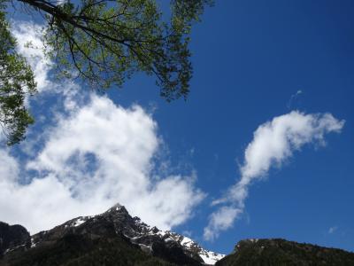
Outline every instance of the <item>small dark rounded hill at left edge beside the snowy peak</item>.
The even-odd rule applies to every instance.
[[[0,222],[0,258],[14,249],[26,249],[31,246],[29,233],[21,225],[9,225]]]

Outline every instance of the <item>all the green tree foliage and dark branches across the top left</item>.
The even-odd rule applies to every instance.
[[[7,2],[0,0],[0,10]],[[204,6],[212,4],[212,0],[172,0],[171,13],[165,15],[155,0],[14,2],[42,13],[48,25],[43,34],[46,53],[58,66],[60,76],[80,77],[104,90],[122,86],[132,74],[144,72],[156,77],[167,101],[189,94],[190,29]],[[24,97],[25,92],[35,92],[35,82],[25,59],[14,50],[15,40],[4,12],[0,20],[0,43],[7,42],[0,48],[1,123],[9,132],[9,144],[14,144],[23,139],[33,122]]]

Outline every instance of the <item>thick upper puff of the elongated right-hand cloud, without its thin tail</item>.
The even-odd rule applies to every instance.
[[[273,165],[292,155],[304,144],[317,141],[324,144],[327,132],[339,132],[344,121],[336,120],[332,114],[304,114],[293,111],[275,117],[258,127],[253,141],[245,151],[245,163],[241,168],[242,185],[253,178],[264,176]]]

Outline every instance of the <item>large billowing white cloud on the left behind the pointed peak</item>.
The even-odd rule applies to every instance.
[[[204,193],[196,188],[193,171],[157,175],[157,165],[165,163],[158,157],[164,145],[150,113],[95,94],[82,100],[74,82],[50,81],[38,29],[15,23],[13,33],[35,69],[40,92],[49,92],[40,94],[39,106],[48,105],[52,93],[62,100],[50,98],[55,106],[44,108],[43,128],[30,129],[21,145],[26,158],[0,147],[0,219],[35,233],[78,215],[104,212],[117,202],[164,230],[189,219]],[[24,48],[27,41],[40,49]],[[32,105],[38,106],[38,98]]]

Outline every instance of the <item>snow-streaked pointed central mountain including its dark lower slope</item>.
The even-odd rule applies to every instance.
[[[224,257],[177,233],[142,223],[119,204],[16,244],[4,249],[0,266],[208,265]]]

